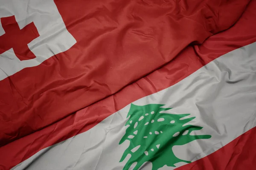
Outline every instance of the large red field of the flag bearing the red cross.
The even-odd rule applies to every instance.
[[[119,91],[172,60],[189,43],[227,29],[248,2],[55,0],[77,43],[0,81],[0,146]],[[189,73],[198,67],[190,67]],[[180,80],[177,76],[174,82]]]

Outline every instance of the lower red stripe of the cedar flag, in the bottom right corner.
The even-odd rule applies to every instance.
[[[255,170],[256,127],[216,152],[177,170]]]

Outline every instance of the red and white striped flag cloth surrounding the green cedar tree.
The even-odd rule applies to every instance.
[[[137,105],[163,103],[174,109],[179,107],[181,110],[176,109],[177,113],[183,111],[196,116],[192,123],[204,124],[203,134],[212,135],[211,139],[188,144],[187,151],[184,151],[186,147],[178,148],[178,156],[191,156],[185,160],[194,161],[180,167],[181,170],[253,169],[256,162],[253,147],[256,138],[253,136],[256,129],[247,130],[255,125],[255,8],[256,1],[250,2],[232,28],[209,37],[201,45],[187,47],[172,62],[118,93],[0,147],[0,169],[10,169],[17,164],[16,170],[39,167],[47,167],[47,170],[70,167],[102,170],[106,165],[115,166],[125,149],[113,147],[119,141],[108,136],[122,138],[124,126],[120,122],[127,121],[125,113],[129,110],[129,104],[138,99],[144,102],[137,101]],[[198,76],[191,78],[194,74]],[[159,92],[169,87],[173,89],[169,94]],[[127,110],[122,109],[124,107]],[[195,110],[192,111],[192,108]],[[120,109],[123,117],[117,112]],[[124,120],[121,121],[121,118]],[[109,122],[102,121],[104,119]],[[204,131],[207,129],[208,132]],[[236,136],[239,137],[230,142]],[[116,154],[111,156],[113,153],[119,153],[120,157]],[[205,155],[208,156],[200,159]],[[113,158],[115,164],[112,164]],[[122,169],[122,166],[113,169],[116,168]]]

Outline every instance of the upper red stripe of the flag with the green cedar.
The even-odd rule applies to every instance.
[[[45,147],[87,131],[125,105],[179,82],[213,59],[255,42],[255,8],[256,1],[253,1],[235,26],[210,37],[203,45],[186,48],[172,62],[127,86],[119,93],[0,147],[0,166],[9,169]]]

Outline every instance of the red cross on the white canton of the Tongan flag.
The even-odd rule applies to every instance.
[[[15,16],[1,18],[5,34],[0,36],[0,54],[13,48],[15,55],[22,61],[35,58],[28,43],[39,37],[35,24],[29,23],[20,29]]]

